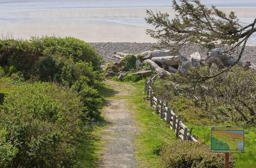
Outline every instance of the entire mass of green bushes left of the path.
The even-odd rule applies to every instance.
[[[102,106],[99,54],[44,37],[0,40],[0,55],[0,76],[23,83],[0,106],[0,167],[79,167],[78,139]]]

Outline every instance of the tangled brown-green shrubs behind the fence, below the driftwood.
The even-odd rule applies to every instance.
[[[216,69],[218,71],[218,69]],[[256,73],[254,69],[233,67],[225,74],[202,82],[195,76],[205,76],[207,67],[177,73],[154,85],[155,93],[181,108],[186,104],[193,114],[216,122],[232,121],[239,125],[256,125],[255,94]],[[185,108],[182,110],[186,110]]]

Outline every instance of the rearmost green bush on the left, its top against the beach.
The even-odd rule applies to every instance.
[[[88,43],[72,37],[42,37],[30,40],[0,40],[1,65],[14,65],[19,71],[27,71],[40,57],[59,54],[74,62],[92,63],[100,69],[102,58]]]

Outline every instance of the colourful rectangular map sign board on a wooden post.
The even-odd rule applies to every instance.
[[[243,127],[211,127],[211,152],[243,153]]]

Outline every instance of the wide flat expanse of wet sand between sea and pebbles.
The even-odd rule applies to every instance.
[[[241,23],[253,21],[256,8],[221,8],[236,12]],[[12,12],[0,19],[2,37],[72,36],[87,42],[156,42],[146,35],[151,29],[144,21],[146,8],[47,9]],[[171,8],[158,8],[174,15]],[[255,39],[255,37],[251,37]],[[256,41],[256,39],[255,39]],[[249,43],[253,43],[249,41]],[[256,43],[255,43],[256,44]]]

